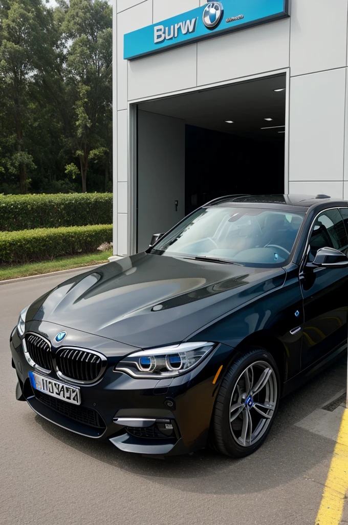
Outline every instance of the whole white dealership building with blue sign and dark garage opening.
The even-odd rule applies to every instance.
[[[114,0],[114,254],[222,195],[348,198],[348,0]]]

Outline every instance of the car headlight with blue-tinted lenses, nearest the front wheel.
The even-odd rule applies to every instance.
[[[208,356],[215,343],[181,343],[156,350],[140,350],[117,363],[114,372],[132,377],[175,377],[192,370]]]

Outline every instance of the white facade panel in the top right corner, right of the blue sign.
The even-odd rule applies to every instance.
[[[346,65],[348,0],[292,0],[291,76]]]

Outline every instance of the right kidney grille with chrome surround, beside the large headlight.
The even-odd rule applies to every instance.
[[[60,379],[83,385],[99,381],[107,365],[105,355],[77,346],[62,346],[54,361]]]

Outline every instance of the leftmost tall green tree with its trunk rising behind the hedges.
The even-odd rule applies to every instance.
[[[27,171],[35,168],[28,147],[35,83],[54,70],[58,35],[53,11],[41,0],[0,0],[0,21],[0,104],[12,123],[5,164],[17,171],[20,191],[27,193]]]

